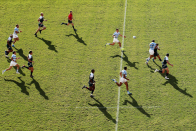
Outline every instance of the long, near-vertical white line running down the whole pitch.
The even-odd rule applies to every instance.
[[[125,0],[125,13],[124,13],[123,37],[122,37],[122,47],[121,48],[123,48],[123,46],[124,46],[126,12],[127,12],[127,0]],[[123,52],[121,52],[120,71],[122,70],[122,58],[123,58]],[[120,81],[120,76],[119,76],[119,81]],[[117,101],[116,128],[115,128],[115,131],[118,131],[119,103],[120,103],[120,87],[118,88],[118,101]]]

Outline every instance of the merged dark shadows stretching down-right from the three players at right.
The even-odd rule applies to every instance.
[[[158,67],[159,67],[159,69],[160,70],[162,70],[162,68],[161,68],[161,66],[159,66],[156,62],[154,62]],[[155,69],[153,69],[151,66],[149,66],[148,65],[148,67],[149,68],[151,68],[152,70],[155,70]],[[154,71],[153,71],[154,72]],[[163,73],[160,73],[161,74],[161,76],[163,77],[163,78],[165,78],[165,73],[163,74]],[[189,96],[189,97],[193,97],[192,95],[190,95],[189,93],[187,93],[186,92],[186,88],[183,90],[183,89],[181,89],[181,88],[179,88],[178,87],[178,80],[176,79],[176,77],[174,77],[173,75],[171,75],[171,74],[169,74],[168,75],[168,77],[169,77],[169,80],[167,80],[163,85],[166,85],[166,84],[171,84],[173,87],[174,87],[174,89],[176,89],[177,91],[179,91],[180,93],[182,93],[182,94],[184,94],[184,95],[187,95],[187,96]]]

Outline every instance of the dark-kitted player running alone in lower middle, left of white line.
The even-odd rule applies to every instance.
[[[86,88],[86,89],[92,91],[92,92],[91,92],[91,95],[90,95],[90,97],[92,97],[92,98],[94,97],[94,96],[93,96],[93,92],[94,92],[94,90],[95,90],[94,73],[95,73],[95,70],[92,69],[92,70],[91,70],[91,73],[90,73],[90,76],[89,76],[89,82],[88,82],[89,87],[86,87],[85,85],[82,87],[82,89],[83,89],[83,88]]]

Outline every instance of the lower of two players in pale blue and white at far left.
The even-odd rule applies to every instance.
[[[18,69],[20,68],[20,66],[16,63],[16,62],[17,62],[17,61],[16,61],[17,59],[20,59],[20,57],[16,58],[16,52],[13,51],[13,54],[12,54],[12,57],[11,57],[11,62],[10,62],[10,67],[9,67],[8,69],[3,70],[3,71],[2,71],[2,75],[3,75],[4,72],[6,72],[6,71],[12,69],[13,66],[16,66],[16,67],[17,67],[16,73],[17,73],[17,74],[20,74],[20,73],[18,72]]]

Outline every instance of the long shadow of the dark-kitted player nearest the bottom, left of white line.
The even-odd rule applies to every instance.
[[[107,112],[107,108],[103,106],[103,104],[101,102],[99,102],[98,100],[96,100],[95,98],[93,98],[97,103],[96,104],[90,104],[88,103],[90,106],[97,106],[98,109],[110,120],[112,120],[113,123],[116,123],[116,120],[112,118],[112,116]]]

